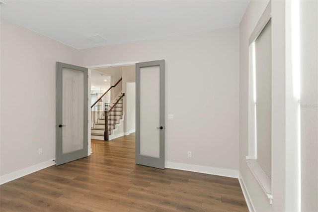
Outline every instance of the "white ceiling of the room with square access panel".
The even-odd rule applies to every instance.
[[[1,0],[2,1],[2,0]],[[76,49],[239,25],[249,0],[3,0],[1,17]],[[107,41],[88,37],[100,35]]]

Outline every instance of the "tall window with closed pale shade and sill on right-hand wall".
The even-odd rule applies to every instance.
[[[272,33],[269,3],[249,39],[248,156],[270,203],[272,163]]]

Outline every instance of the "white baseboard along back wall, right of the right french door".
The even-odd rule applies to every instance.
[[[170,169],[183,170],[183,171],[199,172],[199,173],[210,174],[210,175],[239,178],[239,171],[233,170],[233,169],[221,169],[221,168],[215,168],[215,167],[209,167],[209,166],[199,166],[199,165],[175,163],[175,162],[169,162],[169,161],[165,162],[164,167],[170,168]]]

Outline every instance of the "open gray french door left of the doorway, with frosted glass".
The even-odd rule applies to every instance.
[[[56,62],[56,165],[87,156],[87,74]]]

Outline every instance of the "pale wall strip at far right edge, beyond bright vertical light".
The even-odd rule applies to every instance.
[[[300,3],[302,211],[318,211],[318,1]]]

